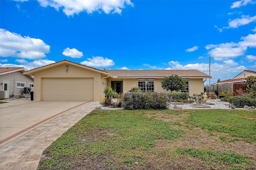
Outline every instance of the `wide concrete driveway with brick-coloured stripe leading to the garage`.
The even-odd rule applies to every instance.
[[[100,105],[99,102],[12,102],[0,104],[1,170],[36,170],[43,150]]]

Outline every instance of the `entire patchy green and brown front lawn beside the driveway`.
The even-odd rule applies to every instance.
[[[256,112],[94,110],[48,147],[39,169],[255,169]]]

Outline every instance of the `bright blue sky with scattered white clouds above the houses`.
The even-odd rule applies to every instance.
[[[197,69],[214,83],[256,70],[256,1],[1,0],[0,57],[27,70]]]

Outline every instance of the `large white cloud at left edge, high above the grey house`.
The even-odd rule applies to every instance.
[[[23,59],[40,59],[50,53],[50,46],[41,39],[22,37],[0,28],[0,56],[18,57]]]

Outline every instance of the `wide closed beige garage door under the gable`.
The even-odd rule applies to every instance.
[[[93,101],[93,78],[43,78],[42,100]]]

